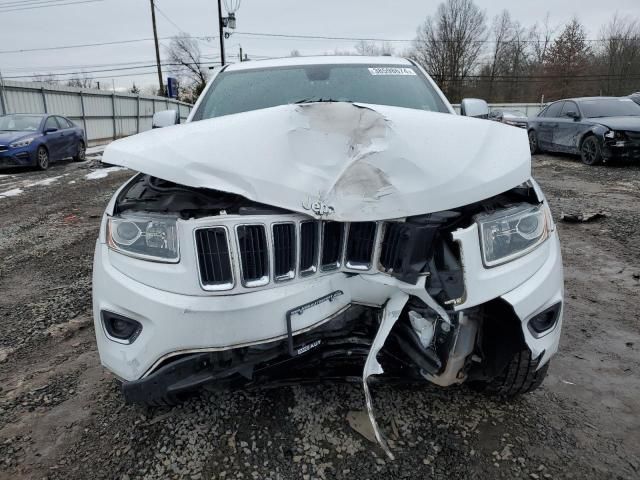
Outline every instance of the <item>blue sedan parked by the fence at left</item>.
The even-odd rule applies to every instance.
[[[49,168],[64,158],[85,159],[84,130],[59,115],[15,113],[0,116],[0,168]]]

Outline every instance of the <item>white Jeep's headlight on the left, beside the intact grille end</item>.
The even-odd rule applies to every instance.
[[[171,217],[109,217],[107,244],[117,252],[145,260],[180,260],[177,221]]]

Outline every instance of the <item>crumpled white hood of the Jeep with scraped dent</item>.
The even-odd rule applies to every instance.
[[[380,105],[284,105],[155,129],[103,161],[338,221],[447,210],[531,175],[526,132]]]

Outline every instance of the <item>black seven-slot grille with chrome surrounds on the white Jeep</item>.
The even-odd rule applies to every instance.
[[[374,266],[382,224],[260,222],[195,230],[202,288],[256,288],[336,270],[366,271]]]

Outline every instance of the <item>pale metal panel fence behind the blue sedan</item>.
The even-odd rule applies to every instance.
[[[81,89],[40,83],[0,84],[0,115],[53,113],[84,128],[89,145],[151,129],[151,119],[161,110],[179,110],[184,121],[191,105],[164,97],[105,90]]]

